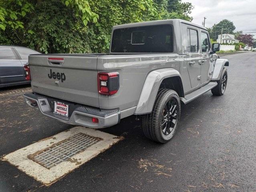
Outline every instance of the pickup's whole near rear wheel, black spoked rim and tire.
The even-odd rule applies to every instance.
[[[143,116],[142,128],[145,136],[160,143],[171,140],[179,124],[180,109],[177,92],[170,89],[159,90],[152,112]]]

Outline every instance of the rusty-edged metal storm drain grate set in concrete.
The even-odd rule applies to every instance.
[[[30,159],[50,169],[63,161],[69,160],[75,154],[83,152],[100,140],[101,138],[79,133],[47,148],[39,154],[30,156]]]

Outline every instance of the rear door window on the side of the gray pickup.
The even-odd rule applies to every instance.
[[[198,31],[187,29],[187,52],[198,52]]]

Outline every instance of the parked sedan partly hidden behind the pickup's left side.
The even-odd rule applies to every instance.
[[[30,54],[39,52],[21,46],[0,45],[0,88],[29,84],[25,79],[24,64]]]

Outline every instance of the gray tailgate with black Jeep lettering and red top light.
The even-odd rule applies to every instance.
[[[28,63],[33,92],[99,107],[96,55],[37,54]]]

